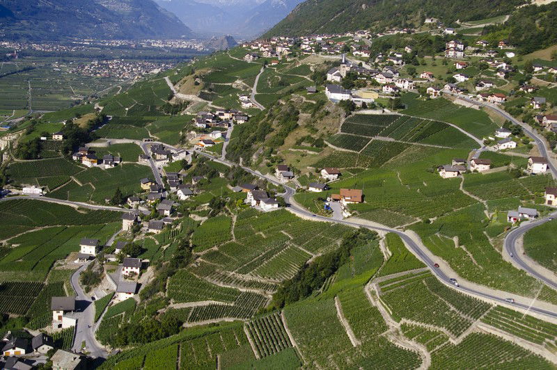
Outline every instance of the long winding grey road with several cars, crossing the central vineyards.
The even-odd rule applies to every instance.
[[[225,163],[225,164],[227,164],[227,166],[237,166],[235,163],[231,163],[230,161],[223,161],[222,159],[217,159],[216,157],[214,157],[210,154],[206,154],[206,153],[200,153],[200,154],[202,154],[203,156],[207,156],[208,158],[211,158],[215,161],[218,161],[219,163]],[[254,171],[254,170],[251,170],[251,168],[247,168],[247,167],[244,167],[244,166],[241,166],[241,167],[246,172],[249,172],[252,175],[255,175],[257,177],[265,179],[265,180],[267,180],[267,181],[269,181],[272,184],[275,184],[277,186],[283,186],[285,191],[284,191],[283,194],[281,194],[281,196],[284,198],[284,200],[287,204],[290,204],[289,205],[290,211],[294,212],[298,216],[302,216],[304,218],[311,218],[313,220],[325,221],[325,222],[329,222],[329,223],[340,223],[340,224],[348,225],[348,226],[352,226],[352,227],[366,227],[367,229],[375,230],[375,231],[379,231],[379,232],[393,232],[395,234],[398,234],[398,236],[400,236],[400,238],[402,238],[402,240],[405,241],[407,246],[409,246],[409,248],[414,252],[414,254],[419,259],[421,259],[421,261],[428,268],[430,268],[430,270],[434,273],[434,275],[436,275],[437,278],[441,282],[446,284],[448,287],[451,287],[453,289],[457,289],[458,291],[463,291],[465,293],[469,293],[472,296],[487,298],[488,300],[492,300],[496,303],[502,303],[504,305],[509,304],[505,299],[510,298],[510,296],[511,296],[510,294],[508,294],[507,296],[495,296],[494,294],[485,293],[484,291],[479,291],[478,289],[474,289],[473,287],[467,287],[466,284],[462,284],[462,283],[460,284],[459,287],[456,287],[453,284],[453,282],[450,281],[451,277],[449,277],[443,271],[441,271],[440,268],[435,267],[434,266],[435,262],[427,255],[427,253],[424,250],[421,249],[421,246],[419,246],[418,243],[416,243],[414,241],[414,239],[412,239],[408,234],[405,234],[405,232],[401,232],[400,230],[391,229],[390,227],[370,227],[369,225],[366,225],[366,224],[363,224],[363,223],[358,223],[356,221],[334,220],[334,219],[327,218],[327,217],[324,217],[324,216],[315,215],[315,214],[311,213],[310,211],[308,211],[307,209],[304,209],[303,207],[299,207],[296,204],[296,202],[294,202],[292,200],[292,197],[296,193],[295,188],[292,188],[292,187],[287,186],[285,184],[281,184],[280,182],[278,182],[276,179],[274,179],[272,177],[262,175],[259,171]],[[457,278],[457,276],[454,276],[453,278]],[[537,306],[534,305],[534,303],[532,303],[532,305],[526,305],[524,303],[518,303],[517,302],[517,303],[514,303],[512,306],[519,307],[519,308],[522,308],[522,309],[529,309],[531,312],[536,312],[538,314],[542,314],[542,315],[545,315],[545,316],[551,316],[552,318],[557,319],[557,312],[549,311],[549,310],[544,309],[542,307],[537,307]]]

